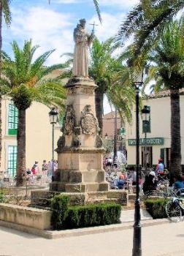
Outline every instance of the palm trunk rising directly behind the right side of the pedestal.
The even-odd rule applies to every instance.
[[[99,136],[102,137],[103,132],[103,99],[104,94],[96,89],[95,91],[95,107],[96,107],[96,118],[99,121]]]

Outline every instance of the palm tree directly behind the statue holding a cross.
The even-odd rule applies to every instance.
[[[103,101],[107,96],[110,105],[116,106],[121,117],[131,120],[131,107],[134,104],[134,88],[129,83],[129,69],[122,64],[122,58],[112,57],[118,45],[114,44],[114,39],[107,39],[100,42],[93,40],[90,50],[89,76],[93,78],[98,88],[95,91],[96,117],[99,121],[99,135],[103,131]],[[65,53],[69,56],[66,65],[72,64],[73,54]],[[67,69],[61,74],[60,79],[71,78],[72,70]]]

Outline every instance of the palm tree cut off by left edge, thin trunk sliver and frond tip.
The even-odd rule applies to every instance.
[[[0,78],[1,78],[1,50],[2,50],[2,16],[4,15],[4,20],[7,26],[10,25],[12,17],[9,10],[9,0],[0,1]],[[0,94],[0,166],[1,166],[1,149],[2,149],[2,129],[1,129],[1,94]]]

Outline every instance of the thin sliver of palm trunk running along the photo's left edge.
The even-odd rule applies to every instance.
[[[0,78],[1,78],[1,50],[2,50],[2,0],[0,0]],[[1,150],[2,150],[2,119],[1,119],[1,94],[0,94],[0,167],[1,167]]]

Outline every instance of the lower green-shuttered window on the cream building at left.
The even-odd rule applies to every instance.
[[[12,177],[16,175],[17,146],[8,146],[8,174]]]

